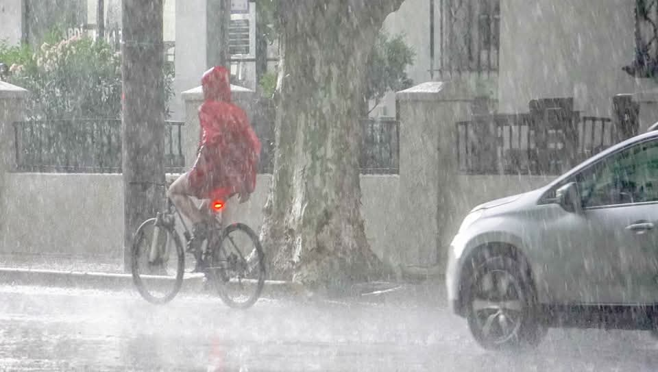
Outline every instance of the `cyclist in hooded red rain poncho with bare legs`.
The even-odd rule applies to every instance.
[[[191,197],[226,201],[239,195],[241,203],[247,201],[256,187],[260,156],[260,141],[247,115],[231,103],[228,70],[216,66],[206,71],[201,84],[204,103],[199,107],[199,122],[203,136],[197,160],[168,191],[176,208],[192,221],[193,242],[197,243],[203,240],[207,227],[202,208],[197,208]]]

